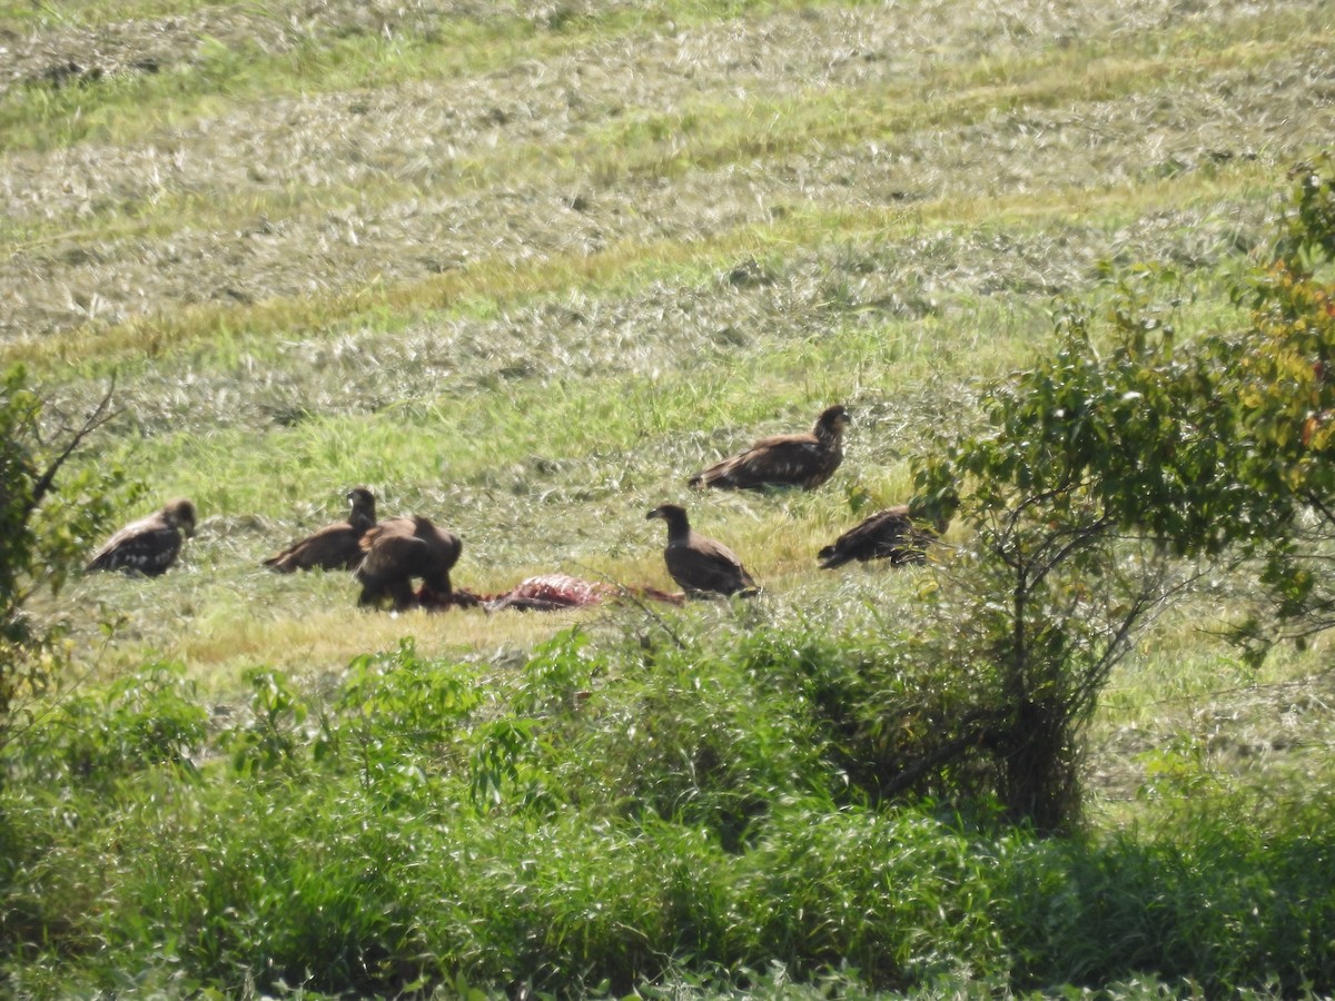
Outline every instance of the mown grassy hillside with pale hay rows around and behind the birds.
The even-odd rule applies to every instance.
[[[1119,268],[1169,266],[1188,335],[1238,323],[1223,276],[1335,137],[1318,0],[0,1],[0,363],[67,412],[115,387],[79,462],[146,486],[125,521],[202,514],[168,575],[36,611],[89,678],[179,663],[219,713],[248,671],[330,690],[405,638],[497,678],[573,622],[654,626],[367,614],[344,574],[260,566],[355,484],[455,530],[479,593],[668,587],[645,513],[677,502],[765,587],[688,629],[893,618],[925,574],[816,550],[906,499],[926,430],[976,420],[979,382]],[[834,402],[821,490],[688,491]],[[1323,647],[1244,669],[1216,611],[1113,678],[1100,830],[1191,783],[1328,777]]]

